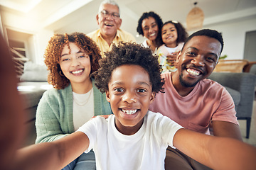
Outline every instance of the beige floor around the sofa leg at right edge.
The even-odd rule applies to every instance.
[[[252,111],[252,122],[250,127],[250,136],[249,139],[245,138],[246,135],[246,121],[238,120],[240,124],[240,130],[242,133],[242,139],[244,142],[249,143],[250,145],[254,145],[256,147],[256,97],[253,103],[253,111]]]

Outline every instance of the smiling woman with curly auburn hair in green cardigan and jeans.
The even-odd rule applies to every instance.
[[[100,50],[83,33],[55,34],[48,42],[45,63],[50,71],[36,111],[36,143],[67,136],[95,115],[109,114],[110,103],[91,77],[100,67]],[[87,159],[92,159],[87,161]],[[78,164],[79,162],[79,164]],[[82,154],[64,169],[95,169],[94,153]]]

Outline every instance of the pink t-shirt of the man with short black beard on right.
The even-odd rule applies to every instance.
[[[171,81],[171,73],[161,74],[165,79],[165,93],[156,94],[149,111],[168,116],[176,123],[201,133],[209,133],[212,120],[238,124],[235,104],[228,91],[215,81],[203,79],[187,96],[180,96]]]

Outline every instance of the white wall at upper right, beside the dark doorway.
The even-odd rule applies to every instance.
[[[256,16],[241,19],[240,21],[227,21],[225,23],[212,24],[203,28],[218,30],[222,33],[224,48],[221,55],[228,55],[227,60],[243,59],[245,33],[247,31],[256,30]],[[191,34],[191,32],[189,32],[189,34]]]

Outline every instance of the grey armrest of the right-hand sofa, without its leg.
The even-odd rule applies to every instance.
[[[238,118],[251,117],[255,98],[256,75],[250,73],[213,72],[209,79],[240,92]]]

